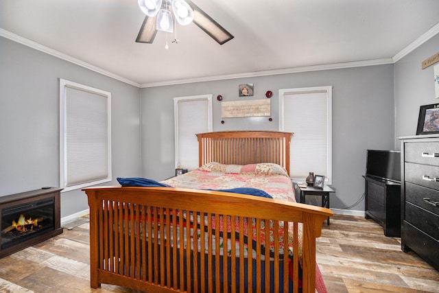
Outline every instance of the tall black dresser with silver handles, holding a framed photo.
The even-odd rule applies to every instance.
[[[400,139],[401,248],[439,270],[439,135]]]

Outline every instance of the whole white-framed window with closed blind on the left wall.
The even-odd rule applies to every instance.
[[[60,79],[60,187],[111,181],[111,93]]]

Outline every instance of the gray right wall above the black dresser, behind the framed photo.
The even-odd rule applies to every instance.
[[[439,52],[439,34],[395,63],[396,137],[416,134],[419,107],[437,104],[434,94],[434,65],[422,69],[421,63]],[[438,65],[439,63],[436,63]],[[395,141],[399,148],[399,140]]]

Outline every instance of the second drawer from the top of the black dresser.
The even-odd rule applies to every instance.
[[[439,190],[439,166],[404,163],[404,168],[406,182]]]

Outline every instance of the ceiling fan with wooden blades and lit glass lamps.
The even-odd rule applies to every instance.
[[[137,43],[152,44],[157,30],[173,32],[174,23],[171,10],[180,25],[195,23],[206,34],[216,40],[219,45],[223,45],[234,38],[230,32],[214,21],[211,16],[191,0],[138,0],[138,3],[139,8],[146,16],[137,35]]]

